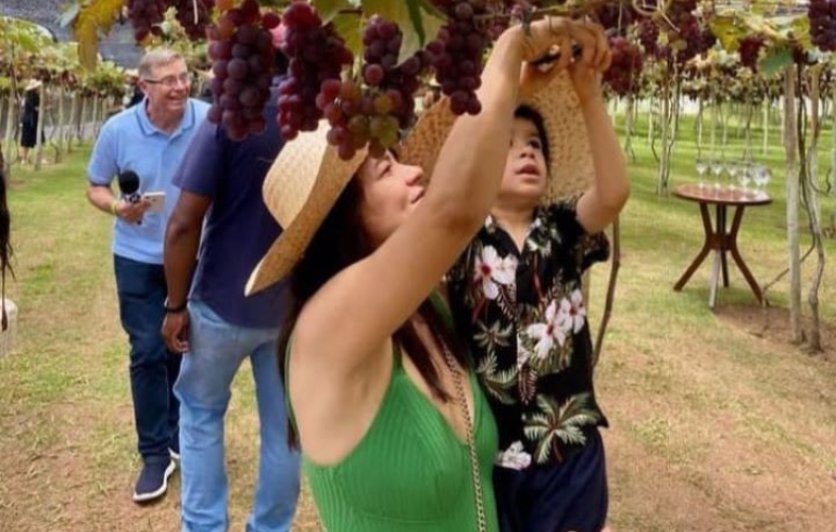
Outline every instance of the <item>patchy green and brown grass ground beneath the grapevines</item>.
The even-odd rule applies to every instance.
[[[673,186],[696,180],[693,130],[683,122]],[[732,135],[727,153],[740,142]],[[656,165],[641,129],[634,148],[615,315],[597,373],[611,425],[605,440],[613,529],[829,530],[836,365],[787,341],[786,279],[769,291],[769,308],[756,305],[733,267],[717,312],[707,306],[708,263],[683,292],[672,290],[701,245],[698,210],[656,195]],[[748,210],[740,231],[742,253],[761,283],[787,266],[782,153],[775,136],[761,159],[773,166],[775,201]],[[16,277],[9,296],[20,314],[14,352],[0,359],[0,528],[175,531],[177,480],[152,507],[129,498],[137,458],[127,340],[113,282],[112,219],[84,197],[88,155],[79,149],[40,173],[15,168],[11,180]],[[826,160],[823,153],[823,167]],[[824,199],[823,212],[834,210],[836,201]],[[834,246],[825,241],[828,255]],[[606,267],[594,271],[595,321],[606,276]],[[833,287],[828,265],[820,296],[831,357]],[[236,381],[226,438],[230,514],[242,530],[258,442],[248,368]],[[319,530],[307,495],[295,530]]]

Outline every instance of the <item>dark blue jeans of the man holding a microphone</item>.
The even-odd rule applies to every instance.
[[[130,390],[138,449],[144,463],[168,460],[177,446],[179,404],[172,391],[180,370],[180,356],[170,353],[160,332],[165,317],[165,271],[113,256],[122,327],[130,342]]]

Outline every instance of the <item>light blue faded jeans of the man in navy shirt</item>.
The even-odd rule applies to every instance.
[[[288,446],[284,390],[277,357],[278,331],[233,326],[205,303],[189,303],[189,353],[175,393],[180,400],[180,479],[183,532],[225,532],[227,474],[224,415],[230,387],[250,357],[261,422],[261,458],[248,532],[287,532],[300,485],[299,453]]]

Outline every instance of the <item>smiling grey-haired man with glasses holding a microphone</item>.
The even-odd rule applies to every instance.
[[[208,105],[189,98],[191,76],[176,52],[145,53],[139,78],[144,100],[110,118],[96,141],[87,198],[116,217],[114,269],[122,326],[130,341],[130,385],[142,457],[134,501],[142,503],[165,493],[179,453],[179,405],[172,389],[180,357],[168,352],[160,333],[167,295],[163,238],[178,195],[172,175]],[[111,183],[126,172],[139,176],[139,194],[164,192],[164,206],[115,195]]]

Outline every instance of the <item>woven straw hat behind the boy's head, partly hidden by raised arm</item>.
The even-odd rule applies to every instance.
[[[523,104],[540,113],[548,137],[549,179],[544,201],[553,202],[586,190],[595,178],[595,167],[581,103],[569,74],[559,73]],[[432,175],[435,159],[455,119],[447,99],[430,107],[404,141],[401,160],[420,166],[427,176]]]

